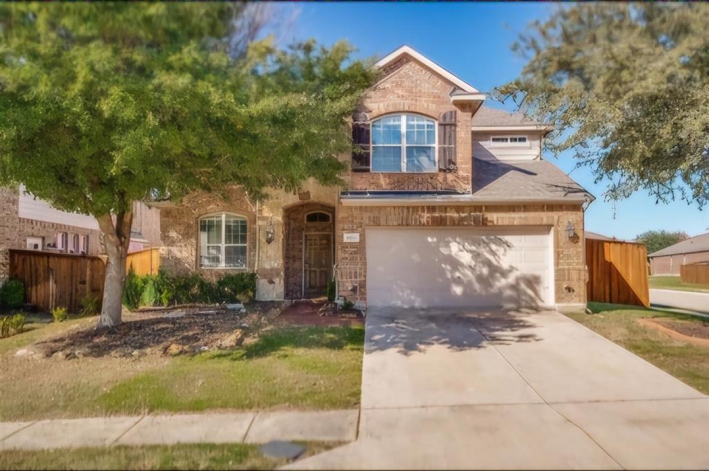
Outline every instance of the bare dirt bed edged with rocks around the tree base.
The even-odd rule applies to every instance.
[[[151,353],[179,355],[235,348],[272,322],[281,302],[251,302],[246,312],[222,306],[181,307],[126,314],[113,329],[85,328],[31,346],[35,356],[140,357]]]

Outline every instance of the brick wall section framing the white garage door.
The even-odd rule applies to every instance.
[[[340,207],[337,212],[337,282],[339,294],[367,302],[368,226],[382,227],[494,227],[551,226],[554,228],[554,297],[557,304],[586,302],[586,263],[581,237],[570,241],[564,233],[571,222],[583,234],[584,212],[571,205],[515,206],[381,206]],[[344,232],[357,232],[359,242],[342,242]]]

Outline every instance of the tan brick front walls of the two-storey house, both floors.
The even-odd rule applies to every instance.
[[[235,189],[227,200],[216,195],[191,195],[177,207],[162,210],[164,250],[162,266],[172,271],[198,267],[198,225],[201,215],[235,212],[249,224],[248,269],[257,273],[257,298],[282,300],[302,291],[304,215],[313,208],[334,211],[335,262],[340,295],[367,301],[366,228],[372,226],[547,226],[553,227],[554,293],[559,305],[586,302],[586,268],[581,238],[569,240],[564,229],[571,222],[583,234],[584,212],[579,205],[490,205],[364,207],[340,204],[340,190],[410,190],[471,193],[473,164],[470,102],[454,105],[455,87],[425,65],[404,55],[390,64],[385,76],[364,96],[360,111],[373,120],[389,113],[417,113],[438,120],[456,110],[457,171],[430,174],[347,172],[344,186],[324,187],[308,181],[296,193],[269,191],[262,203],[250,203]],[[350,154],[341,159],[350,163]],[[273,240],[265,239],[273,232]],[[359,242],[342,242],[344,232],[360,234]],[[201,270],[207,276],[224,271]]]

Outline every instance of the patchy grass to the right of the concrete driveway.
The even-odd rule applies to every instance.
[[[566,314],[606,339],[665,370],[675,378],[709,394],[709,348],[672,339],[660,331],[637,322],[642,317],[703,323],[688,314],[673,314],[637,306],[589,302],[593,314]]]

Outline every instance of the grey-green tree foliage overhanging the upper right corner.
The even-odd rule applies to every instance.
[[[581,3],[530,25],[496,90],[554,123],[547,145],[610,179],[607,198],[709,200],[709,5]]]

